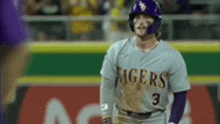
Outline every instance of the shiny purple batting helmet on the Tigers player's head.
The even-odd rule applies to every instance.
[[[129,23],[131,30],[134,31],[134,17],[137,14],[150,15],[155,19],[154,23],[148,27],[148,34],[157,33],[160,30],[162,24],[162,12],[160,6],[154,0],[138,0],[131,9],[129,14]]]

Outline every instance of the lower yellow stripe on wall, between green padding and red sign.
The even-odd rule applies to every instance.
[[[194,85],[220,83],[219,76],[190,76],[190,83]],[[101,77],[22,77],[18,85],[99,85]]]

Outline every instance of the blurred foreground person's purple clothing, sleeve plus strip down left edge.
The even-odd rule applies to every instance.
[[[12,0],[0,0],[0,124],[6,124],[3,104],[2,60],[14,46],[21,44],[30,36],[25,33],[26,23],[22,21],[22,12],[16,9]],[[27,30],[26,30],[27,31]]]

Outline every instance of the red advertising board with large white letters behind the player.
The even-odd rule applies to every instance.
[[[190,123],[216,124],[205,86],[189,92]],[[99,86],[36,86],[29,88],[19,115],[20,124],[100,124]]]

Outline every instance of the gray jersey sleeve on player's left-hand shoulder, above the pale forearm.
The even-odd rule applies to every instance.
[[[107,79],[113,79],[115,80],[117,77],[117,51],[118,51],[118,44],[115,43],[111,45],[109,48],[107,54],[105,55],[102,69],[100,71],[100,74],[102,77],[105,77]]]

